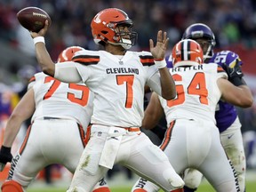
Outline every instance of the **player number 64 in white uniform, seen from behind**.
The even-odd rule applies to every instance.
[[[165,114],[169,128],[160,148],[169,157],[175,171],[182,173],[193,167],[204,174],[216,191],[239,191],[234,168],[220,144],[214,114],[220,99],[239,107],[250,107],[253,99],[249,87],[229,83],[227,74],[217,64],[200,65],[203,50],[194,40],[186,39],[176,44],[172,58],[174,68],[170,72],[176,83],[177,97],[164,100],[153,93],[143,125],[148,126]],[[236,70],[230,68],[228,75],[236,76]],[[153,183],[140,179],[132,192],[158,189]]]

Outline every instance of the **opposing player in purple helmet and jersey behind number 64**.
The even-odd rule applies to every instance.
[[[203,23],[196,23],[188,26],[185,30],[182,39],[193,39],[201,45],[204,51],[204,63],[217,63],[222,68],[234,68],[234,66],[242,65],[242,60],[236,52],[220,51],[213,52],[216,44],[215,36],[212,29]],[[169,61],[172,60],[170,57]],[[172,62],[167,62],[171,65]],[[241,73],[242,72],[237,72]],[[231,79],[230,79],[231,80]],[[245,84],[242,82],[231,81],[235,85]],[[223,148],[225,149],[228,158],[231,160],[239,181],[240,190],[245,189],[245,171],[246,160],[244,155],[244,144],[241,132],[241,124],[237,116],[236,108],[234,105],[220,100],[215,112],[217,127],[220,131],[220,140]],[[196,170],[187,170],[185,172],[185,192],[195,191],[199,186],[203,175]]]

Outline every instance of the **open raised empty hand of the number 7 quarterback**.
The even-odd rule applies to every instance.
[[[149,48],[152,53],[154,59],[156,60],[164,60],[165,52],[167,50],[167,45],[169,42],[169,38],[167,38],[167,33],[162,30],[159,30],[157,33],[157,42],[154,47],[154,42],[152,39],[149,40]]]

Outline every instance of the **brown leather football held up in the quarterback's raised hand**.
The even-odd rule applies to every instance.
[[[51,25],[52,20],[47,12],[38,7],[26,7],[17,13],[17,19],[23,28],[27,28],[32,32],[39,32],[44,28],[45,20],[49,21]]]

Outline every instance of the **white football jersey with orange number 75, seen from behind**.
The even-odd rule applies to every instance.
[[[28,88],[35,92],[36,111],[32,122],[45,116],[76,120],[84,128],[92,116],[93,93],[84,84],[61,83],[43,72],[30,80]]]

